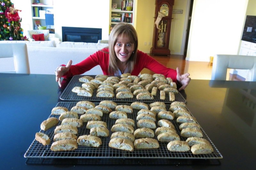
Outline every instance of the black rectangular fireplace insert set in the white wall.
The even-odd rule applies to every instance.
[[[98,43],[101,28],[62,27],[62,42]]]

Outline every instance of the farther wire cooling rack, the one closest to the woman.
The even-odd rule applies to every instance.
[[[91,77],[95,77],[95,75],[89,75]],[[71,81],[68,83],[68,86],[65,88],[65,90],[62,92],[60,99],[61,100],[68,100],[68,101],[78,101],[78,100],[93,100],[93,101],[101,101],[101,100],[112,100],[112,101],[120,101],[120,102],[134,102],[134,101],[141,101],[141,102],[165,102],[170,103],[169,95],[165,95],[165,99],[160,99],[160,91],[157,90],[156,96],[154,96],[154,99],[150,100],[137,100],[136,96],[133,96],[133,98],[116,98],[116,91],[114,90],[114,97],[96,97],[97,90],[93,90],[92,97],[85,97],[85,96],[77,96],[76,93],[72,92],[72,89],[74,87],[82,87],[82,82],[79,82],[79,78],[83,77],[83,75],[75,75],[72,77]],[[175,101],[184,102],[186,103],[185,98],[180,94],[175,94]]]

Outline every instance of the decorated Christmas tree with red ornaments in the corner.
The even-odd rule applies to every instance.
[[[20,27],[21,18],[18,12],[21,10],[15,9],[10,0],[0,0],[0,41],[27,40]]]

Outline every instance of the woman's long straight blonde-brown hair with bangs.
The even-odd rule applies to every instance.
[[[108,65],[108,74],[114,75],[114,73],[118,70],[117,61],[118,58],[115,52],[115,45],[119,37],[127,37],[131,43],[134,43],[134,51],[131,54],[131,57],[128,59],[127,68],[128,73],[131,73],[137,59],[137,50],[138,50],[138,35],[136,30],[131,24],[127,24],[124,22],[120,22],[116,24],[110,35],[108,40],[108,49],[109,49],[109,65]]]

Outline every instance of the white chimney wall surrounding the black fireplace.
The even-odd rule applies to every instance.
[[[108,40],[109,0],[54,0],[55,37],[62,39],[61,27],[102,28]]]

